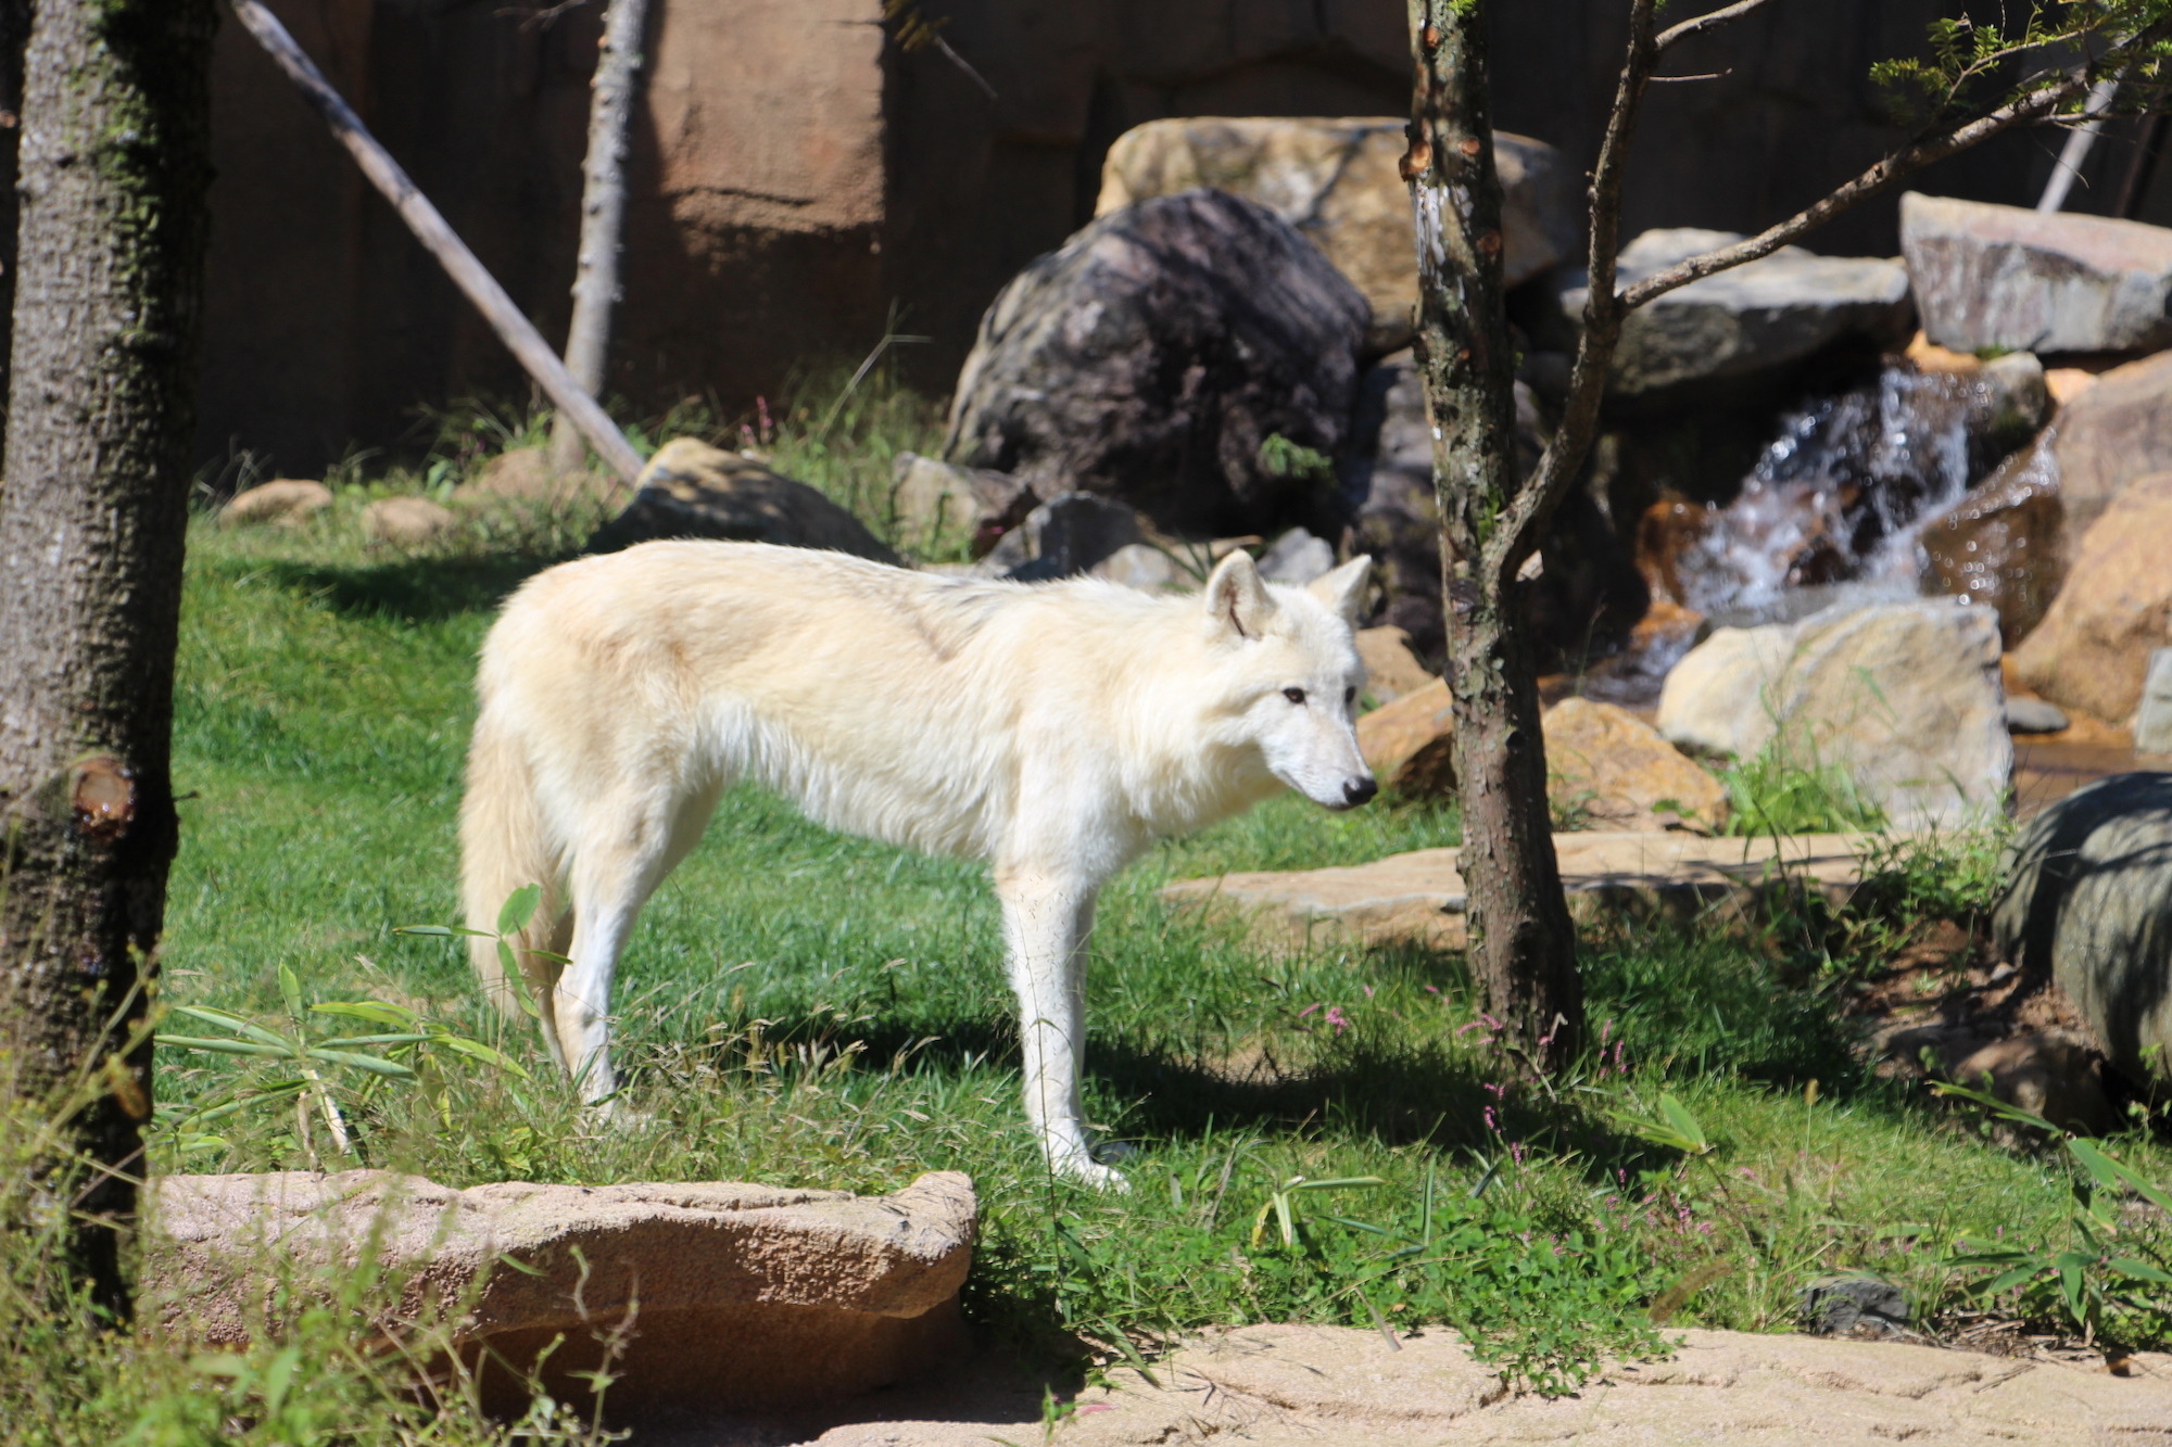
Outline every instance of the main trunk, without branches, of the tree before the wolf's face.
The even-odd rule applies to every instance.
[[[1486,2],[1410,0],[1410,28],[1416,89],[1403,178],[1418,232],[1416,361],[1434,421],[1470,967],[1488,1015],[1551,1067],[1579,1045],[1583,984],[1553,856],[1538,682],[1516,597],[1536,528],[1525,539],[1499,537],[1520,482]]]

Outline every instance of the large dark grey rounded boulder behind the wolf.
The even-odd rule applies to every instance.
[[[1112,211],[988,306],[943,456],[1090,491],[1182,537],[1327,530],[1371,317],[1288,222],[1227,191]]]

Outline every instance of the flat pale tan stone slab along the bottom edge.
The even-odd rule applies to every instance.
[[[838,1404],[793,1423],[732,1423],[643,1438],[649,1447],[1175,1447],[1249,1443],[1620,1443],[1638,1447],[2144,1447],[2172,1443],[2172,1356],[2129,1375],[1974,1351],[1820,1336],[1681,1332],[1672,1360],[1614,1367],[1570,1397],[1518,1397],[1447,1330],[1401,1336],[1314,1325],[1212,1332],[1156,1362],[1156,1382],[1112,1371],[1047,1436],[1019,1391],[945,1401]],[[882,1417],[882,1421],[869,1421]]]

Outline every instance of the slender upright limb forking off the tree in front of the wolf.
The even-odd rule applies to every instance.
[[[1757,0],[1761,2],[1761,0]],[[1523,561],[1538,548],[1538,528],[1559,504],[1562,493],[1599,430],[1599,400],[1605,393],[1607,367],[1614,361],[1614,341],[1620,337],[1627,306],[1614,293],[1614,265],[1620,254],[1622,172],[1629,163],[1629,137],[1636,135],[1636,115],[1644,104],[1644,89],[1651,72],[1659,63],[1659,46],[1653,39],[1653,0],[1631,0],[1629,4],[1629,48],[1622,56],[1622,78],[1614,91],[1614,109],[1607,113],[1607,135],[1599,146],[1599,165],[1592,167],[1592,252],[1590,252],[1590,300],[1583,304],[1583,337],[1577,341],[1577,363],[1568,376],[1568,402],[1562,421],[1553,430],[1553,441],[1538,458],[1538,471],[1525,480],[1510,504],[1503,526],[1488,548],[1486,567],[1499,580],[1507,580],[1523,567]],[[1742,9],[1731,7],[1731,9]],[[1683,22],[1696,24],[1696,22]],[[1681,26],[1677,26],[1679,30]]]

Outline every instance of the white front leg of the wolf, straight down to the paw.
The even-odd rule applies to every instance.
[[[1019,995],[1019,1045],[1025,1054],[1025,1119],[1058,1175],[1123,1191],[1121,1173],[1095,1162],[1079,1106],[1086,1058],[1086,936],[1090,884],[1025,869],[999,869],[1010,989]]]

